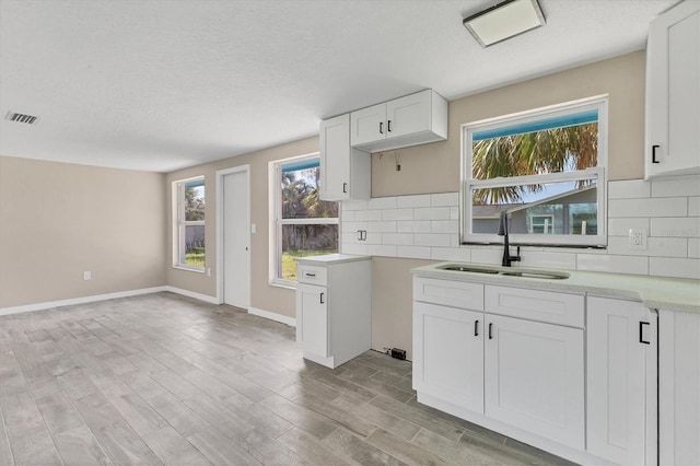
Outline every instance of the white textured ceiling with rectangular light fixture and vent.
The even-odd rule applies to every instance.
[[[497,2],[0,0],[0,117],[40,118],[0,120],[0,154],[171,172],[642,49],[677,0],[539,0],[545,27],[482,49],[462,19]]]

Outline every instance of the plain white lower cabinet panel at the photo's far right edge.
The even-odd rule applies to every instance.
[[[700,465],[700,314],[658,311],[662,465]]]

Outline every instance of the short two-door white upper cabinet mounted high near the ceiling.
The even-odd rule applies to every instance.
[[[447,101],[427,89],[350,114],[350,144],[381,151],[447,139]]]

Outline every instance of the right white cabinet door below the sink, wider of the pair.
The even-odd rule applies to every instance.
[[[486,317],[486,415],[583,450],[583,330]]]

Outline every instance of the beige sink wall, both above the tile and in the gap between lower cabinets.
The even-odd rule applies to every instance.
[[[459,190],[460,126],[563,102],[609,94],[608,178],[635,179],[644,164],[644,53],[537,78],[450,103],[444,142],[372,155],[372,197]],[[411,276],[416,260],[373,258],[372,345],[411,352]],[[429,264],[423,261],[422,264]]]

